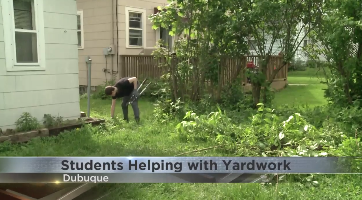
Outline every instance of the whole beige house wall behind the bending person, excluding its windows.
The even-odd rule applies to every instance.
[[[78,50],[79,85],[87,85],[87,57],[92,59],[91,85],[98,86],[110,80],[112,76],[119,78],[121,65],[117,69],[117,56],[103,55],[103,49],[117,44],[117,0],[77,0],[77,10],[83,10],[84,48]],[[118,55],[138,55],[143,48],[156,46],[156,30],[152,29],[148,16],[154,8],[167,5],[167,0],[118,0]],[[126,48],[126,7],[146,10],[146,45],[143,48]],[[120,59],[118,58],[120,63]],[[104,72],[104,69],[107,69]],[[113,72],[113,74],[111,74]]]

